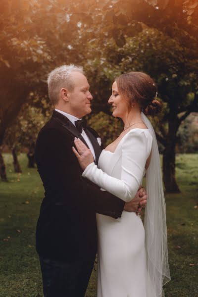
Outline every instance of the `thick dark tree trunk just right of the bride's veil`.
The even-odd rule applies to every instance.
[[[175,178],[175,146],[178,128],[178,119],[169,118],[167,145],[163,151],[163,182],[167,193],[180,193]]]

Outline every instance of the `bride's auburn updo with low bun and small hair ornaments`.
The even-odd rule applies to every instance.
[[[124,99],[130,100],[129,107],[137,102],[146,115],[156,115],[162,104],[156,100],[155,82],[144,72],[129,72],[115,79],[118,91]]]

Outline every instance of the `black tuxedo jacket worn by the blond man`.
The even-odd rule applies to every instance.
[[[101,149],[93,129],[86,131],[98,162]],[[124,202],[82,178],[72,151],[76,127],[54,111],[36,142],[36,163],[45,188],[36,229],[36,249],[54,260],[78,261],[96,252],[96,212],[120,217]],[[86,143],[85,143],[86,144]]]

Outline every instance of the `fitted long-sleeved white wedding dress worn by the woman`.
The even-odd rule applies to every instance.
[[[91,163],[83,176],[103,190],[130,201],[142,184],[151,146],[148,129],[132,129],[114,152],[102,150],[99,168]],[[127,211],[118,219],[97,214],[97,226],[97,297],[155,297],[148,277],[141,218]]]

